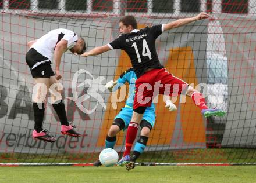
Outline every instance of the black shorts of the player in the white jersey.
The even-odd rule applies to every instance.
[[[26,62],[33,78],[50,78],[55,75],[52,71],[51,61],[33,48],[27,52]]]

